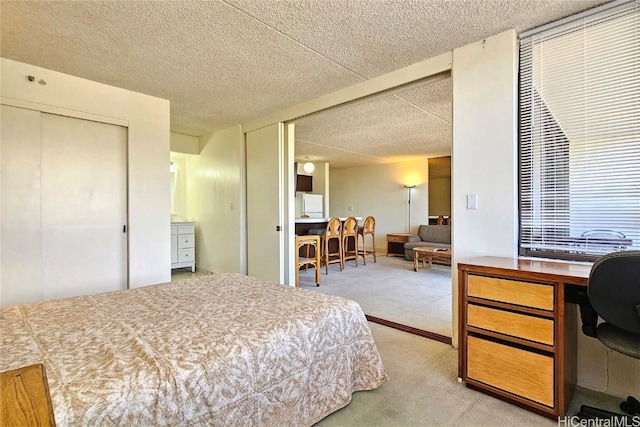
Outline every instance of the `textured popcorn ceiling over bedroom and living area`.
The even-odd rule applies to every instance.
[[[171,101],[200,136],[607,0],[0,2],[2,57]],[[332,167],[450,152],[451,81],[297,122]]]

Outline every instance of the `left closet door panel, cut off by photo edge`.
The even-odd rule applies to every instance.
[[[1,106],[0,304],[39,301],[40,112]]]

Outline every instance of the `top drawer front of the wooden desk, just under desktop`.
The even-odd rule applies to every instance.
[[[553,311],[553,286],[496,277],[467,277],[467,295]]]

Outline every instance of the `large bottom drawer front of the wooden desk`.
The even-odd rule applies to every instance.
[[[553,399],[553,358],[469,337],[467,376],[550,408]]]

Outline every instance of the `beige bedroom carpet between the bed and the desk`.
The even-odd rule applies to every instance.
[[[389,381],[376,390],[354,393],[349,405],[317,426],[558,425],[458,383],[458,353],[450,345],[371,322],[369,326]],[[578,388],[570,414],[575,414],[582,403],[615,411],[618,399]]]

